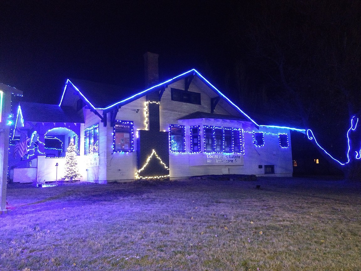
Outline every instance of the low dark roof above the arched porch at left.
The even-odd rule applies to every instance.
[[[30,102],[19,104],[25,121],[84,123],[84,120],[71,107]]]

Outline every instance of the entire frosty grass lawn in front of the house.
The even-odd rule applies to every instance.
[[[256,189],[261,185],[261,189]],[[0,270],[360,270],[361,184],[8,185]]]

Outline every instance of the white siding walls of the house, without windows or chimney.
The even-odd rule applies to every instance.
[[[291,176],[292,175],[292,154],[291,145],[287,149],[279,146],[278,133],[287,133],[290,142],[290,132],[286,129],[262,128],[265,134],[265,146],[255,147],[253,145],[252,129],[255,129],[251,122],[198,119],[198,120],[178,120],[190,113],[201,111],[210,113],[210,94],[217,96],[210,91],[209,87],[200,84],[199,79],[193,79],[190,91],[201,93],[201,105],[175,102],[171,100],[171,87],[184,89],[184,80],[180,80],[169,85],[162,95],[160,102],[160,130],[168,131],[169,124],[181,124],[186,126],[186,151],[190,151],[190,125],[201,125],[201,149],[203,150],[203,125],[223,126],[230,128],[243,128],[244,150],[242,162],[234,164],[208,165],[206,162],[194,165],[195,159],[201,161],[206,154],[191,153],[170,153],[170,176],[187,177],[207,174],[264,174],[264,165],[274,165],[275,174],[270,176]],[[202,89],[202,87],[204,89]],[[119,108],[116,119],[132,121],[134,123],[134,151],[133,152],[113,152],[113,127],[110,126],[108,115],[107,126],[104,127],[99,117],[85,109],[86,124],[81,127],[80,154],[83,157],[84,170],[86,170],[86,180],[93,182],[105,182],[116,180],[134,180],[137,170],[137,130],[145,130],[145,96]],[[139,109],[139,110],[138,110]],[[138,112],[137,112],[138,111]],[[99,112],[102,114],[102,112]],[[214,113],[223,115],[237,115],[233,108],[224,102],[218,103]],[[237,115],[239,116],[239,115]],[[99,123],[99,156],[87,155],[84,157],[84,129],[93,124]],[[256,130],[259,131],[259,130]],[[249,132],[249,133],[248,133]],[[258,168],[262,165],[262,168]]]

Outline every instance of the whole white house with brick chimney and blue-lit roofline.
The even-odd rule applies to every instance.
[[[13,138],[23,131],[31,141],[24,165],[12,165],[14,182],[59,178],[71,139],[85,181],[292,176],[290,130],[304,130],[259,125],[195,69],[158,82],[158,55],[144,58],[146,87],[126,98],[116,86],[68,79],[58,105],[20,102]]]

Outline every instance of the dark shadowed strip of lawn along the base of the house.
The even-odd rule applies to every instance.
[[[360,182],[335,180],[330,177],[316,178],[282,178],[258,177],[241,180],[210,176],[192,177],[185,180],[170,181],[135,181],[127,183],[112,182],[93,184],[87,182],[65,183],[64,185],[35,188],[31,184],[8,184],[8,201],[12,208],[20,208],[49,202],[79,202],[95,204],[114,202],[127,198],[149,197],[154,193],[192,193],[207,191],[213,195],[232,189],[255,190],[255,193],[280,192],[287,194],[304,194],[326,197],[337,194],[359,194]],[[257,191],[257,192],[256,192]]]

